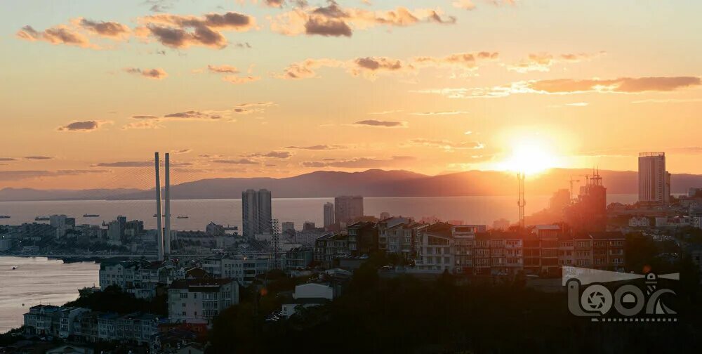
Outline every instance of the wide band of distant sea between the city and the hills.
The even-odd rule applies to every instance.
[[[527,215],[545,208],[548,196],[527,196]],[[608,195],[608,202],[632,203],[636,195]],[[279,221],[293,221],[302,228],[305,221],[321,225],[323,206],[333,198],[273,199],[273,216]],[[380,216],[388,211],[396,216],[437,216],[442,220],[459,220],[468,224],[492,225],[499,218],[516,221],[515,197],[374,197],[364,199],[366,215]],[[100,224],[124,215],[128,220],[145,221],[146,228],[156,228],[156,206],[150,200],[124,201],[68,201],[68,202],[0,202],[1,224],[18,225],[34,222],[36,216],[66,214],[76,223]],[[84,214],[98,214],[98,218],[84,218]],[[173,230],[204,230],[210,221],[241,228],[241,199],[173,200],[171,202]],[[176,218],[176,216],[188,218]]]

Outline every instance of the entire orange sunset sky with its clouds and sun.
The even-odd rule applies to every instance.
[[[702,173],[700,1],[4,0],[0,188]]]

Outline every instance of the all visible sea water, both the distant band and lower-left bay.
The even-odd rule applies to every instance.
[[[526,214],[548,206],[549,196],[527,196]],[[607,202],[633,203],[637,195],[608,195]],[[324,204],[333,198],[272,199],[273,217],[279,222],[292,221],[297,229],[303,223],[322,225]],[[145,228],[156,228],[152,200],[88,200],[47,202],[0,202],[0,225],[33,223],[37,216],[65,214],[77,224],[101,224],[126,216],[143,220]],[[420,220],[435,217],[464,224],[491,225],[505,218],[518,218],[515,197],[366,197],[364,214],[411,216]],[[85,217],[84,214],[99,215]],[[173,230],[204,230],[210,222],[241,228],[241,199],[189,199],[171,201]],[[177,218],[181,216],[181,218]],[[38,221],[48,223],[48,221]],[[13,270],[12,268],[16,269]],[[22,314],[39,303],[62,305],[78,297],[78,289],[98,284],[95,263],[69,263],[47,258],[0,256],[0,333],[22,325]]]

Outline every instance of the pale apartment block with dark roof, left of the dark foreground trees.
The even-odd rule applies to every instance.
[[[168,287],[168,320],[211,323],[213,317],[237,303],[239,284],[234,280],[176,280]]]

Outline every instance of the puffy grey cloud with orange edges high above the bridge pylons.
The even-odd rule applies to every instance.
[[[138,22],[141,27],[136,32],[140,37],[151,37],[171,48],[221,49],[228,44],[222,31],[246,32],[256,27],[255,18],[235,12],[208,13],[201,17],[162,13],[144,16]]]

